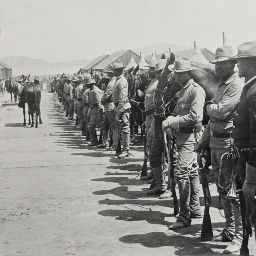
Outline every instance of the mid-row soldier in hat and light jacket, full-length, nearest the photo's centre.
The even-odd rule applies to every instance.
[[[121,152],[117,152],[118,158],[125,158],[129,156],[129,144],[130,144],[130,102],[128,100],[128,82],[123,75],[123,69],[125,68],[122,62],[115,62],[113,75],[116,76],[116,81],[113,86],[113,100],[116,106],[116,121],[118,122],[119,132],[122,133],[123,149]]]

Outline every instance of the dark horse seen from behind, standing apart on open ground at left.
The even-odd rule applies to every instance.
[[[34,112],[36,112],[36,125],[35,128],[38,128],[38,116],[39,116],[39,124],[42,124],[41,119],[41,112],[40,112],[40,102],[41,102],[41,90],[40,86],[37,84],[34,84],[32,82],[29,82],[29,75],[24,76],[22,75],[23,81],[22,83],[25,84],[22,92],[20,94],[20,102],[19,107],[23,108],[23,116],[24,116],[24,123],[23,125],[26,125],[26,111],[25,111],[25,103],[28,104],[28,116],[29,116],[29,122],[28,125],[30,125],[30,115],[31,115],[31,126],[34,127]]]

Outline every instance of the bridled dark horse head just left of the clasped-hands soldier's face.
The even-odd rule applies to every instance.
[[[168,104],[168,102],[175,102],[175,94],[180,90],[180,85],[176,82],[174,73],[170,71],[170,65],[174,64],[174,61],[175,55],[171,52],[170,57],[158,78],[158,85],[154,92],[154,104],[157,114],[165,112],[166,104]]]

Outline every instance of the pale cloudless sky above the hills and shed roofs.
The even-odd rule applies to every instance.
[[[156,43],[256,40],[255,0],[0,0],[0,56],[51,62]],[[168,50],[168,49],[167,49]]]

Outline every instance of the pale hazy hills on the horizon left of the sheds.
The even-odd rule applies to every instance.
[[[0,57],[0,61],[12,67],[12,75],[21,74],[46,75],[76,73],[85,66],[90,60],[70,60],[64,62],[48,62],[46,60],[33,59],[25,56]]]

